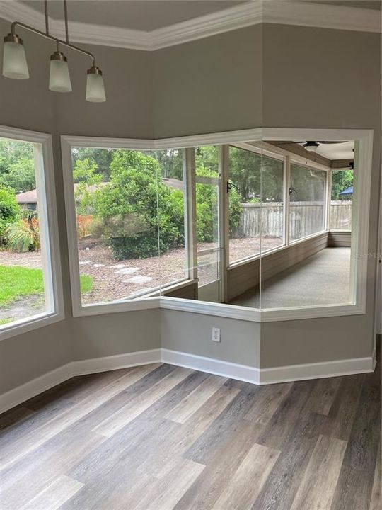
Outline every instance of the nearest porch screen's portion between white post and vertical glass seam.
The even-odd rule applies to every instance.
[[[229,263],[260,254],[261,156],[229,147]]]

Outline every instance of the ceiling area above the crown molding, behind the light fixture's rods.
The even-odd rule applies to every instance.
[[[243,3],[244,0],[69,0],[68,18],[69,21],[149,32]],[[21,4],[44,12],[43,0],[24,0]],[[48,11],[51,18],[63,19],[63,1],[50,0]]]

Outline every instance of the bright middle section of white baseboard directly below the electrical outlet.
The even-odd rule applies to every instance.
[[[204,356],[179,351],[170,351],[166,348],[162,348],[162,361],[170,365],[192,368],[193,370],[201,370],[202,372],[259,384],[259,369],[248,365],[205,358]]]

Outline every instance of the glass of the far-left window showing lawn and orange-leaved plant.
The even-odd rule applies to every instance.
[[[43,268],[41,146],[0,139],[0,327],[51,312]]]

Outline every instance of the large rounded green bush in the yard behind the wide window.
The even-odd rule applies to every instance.
[[[141,152],[116,151],[110,169],[110,182],[93,196],[103,237],[115,258],[145,258],[182,244],[183,193],[161,182],[156,159]]]

